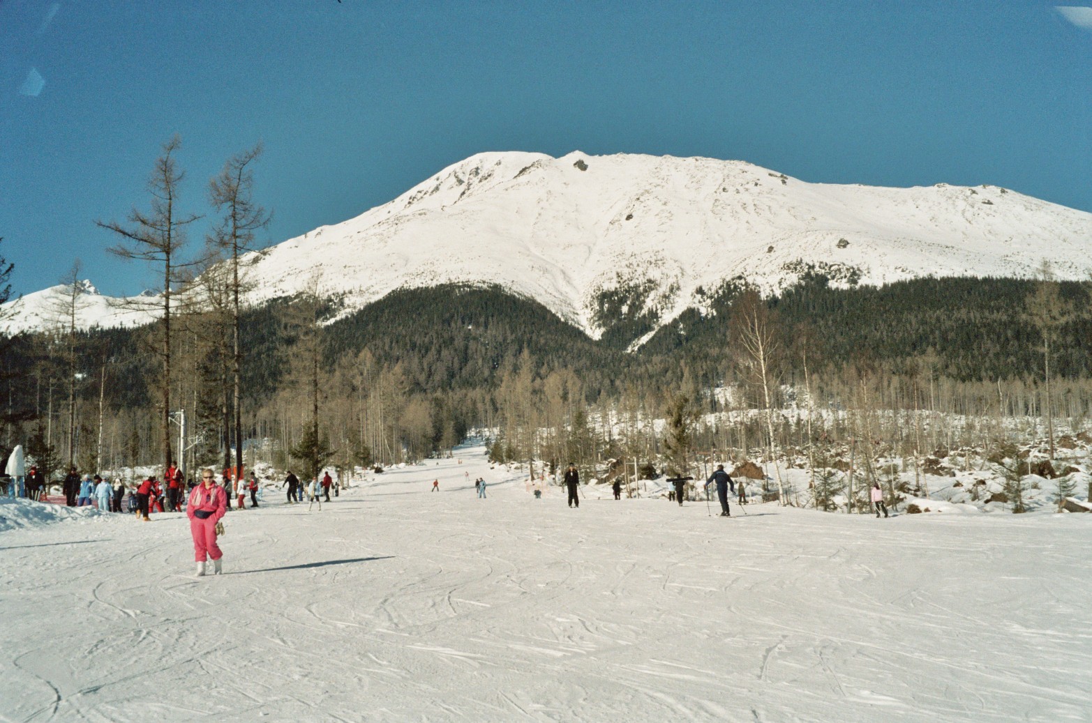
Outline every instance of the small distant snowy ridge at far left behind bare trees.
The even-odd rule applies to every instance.
[[[28,293],[25,297],[3,305],[4,318],[0,320],[0,328],[8,334],[20,332],[44,332],[54,327],[67,328],[69,311],[72,305],[72,289],[63,284]],[[75,325],[80,329],[96,326],[140,326],[153,321],[155,316],[155,297],[144,297],[145,308],[134,308],[132,303],[124,304],[124,299],[105,297],[92,286],[91,281],[81,281],[76,289]],[[142,300],[138,297],[130,302]]]

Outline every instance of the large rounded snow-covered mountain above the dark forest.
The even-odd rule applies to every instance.
[[[767,290],[809,267],[864,284],[1031,276],[1045,258],[1079,278],[1090,246],[1092,214],[996,186],[834,185],[711,158],[484,153],[254,255],[249,301],[317,285],[348,312],[400,288],[498,285],[597,338],[612,315],[652,311],[665,324],[738,276]],[[135,320],[110,310],[97,321]]]

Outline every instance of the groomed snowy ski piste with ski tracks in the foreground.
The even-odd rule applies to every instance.
[[[221,577],[178,515],[22,516],[0,720],[1092,719],[1092,516],[577,510],[462,454],[229,514]]]

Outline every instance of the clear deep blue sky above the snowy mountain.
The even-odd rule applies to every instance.
[[[266,243],[483,150],[993,183],[1092,210],[1090,15],[1016,0],[0,0],[0,254],[20,293],[76,257],[104,293],[154,286],[94,221],[147,207],[176,132],[199,214],[224,160],[264,143]]]

